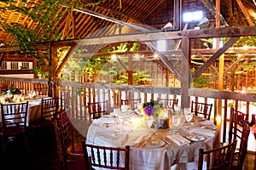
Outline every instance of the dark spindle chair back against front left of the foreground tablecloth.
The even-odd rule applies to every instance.
[[[125,148],[106,147],[94,144],[86,144],[82,141],[84,150],[85,169],[102,167],[109,169],[129,169],[130,146]]]

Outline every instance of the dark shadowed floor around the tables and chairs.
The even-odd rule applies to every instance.
[[[83,136],[77,134],[77,140],[82,141]],[[7,145],[7,150],[0,158],[1,170],[60,170],[55,148],[54,133],[39,135],[30,133],[28,135],[30,154],[27,153],[23,140],[15,140]],[[255,144],[255,141],[254,141]],[[255,144],[256,145],[256,144]],[[255,146],[256,147],[256,146]],[[249,152],[244,161],[243,170],[255,170],[255,152]]]

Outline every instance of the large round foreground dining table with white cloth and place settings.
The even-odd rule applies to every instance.
[[[200,148],[210,150],[219,146],[218,129],[207,120],[184,122],[179,127],[160,128],[156,132],[145,124],[142,117],[132,114],[122,124],[117,116],[102,116],[91,123],[86,143],[130,145],[131,170],[170,169],[176,163],[197,161]]]

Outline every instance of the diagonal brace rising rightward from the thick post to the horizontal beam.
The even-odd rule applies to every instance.
[[[224,54],[225,50],[230,48],[230,46],[234,42],[236,42],[236,40],[238,38],[239,37],[232,37],[232,38],[230,38],[230,40],[228,42],[226,42],[222,48],[219,48],[217,53],[213,54],[211,59],[209,59],[205,65],[202,65],[201,68],[199,68],[197,71],[195,71],[195,73],[192,75],[192,81],[194,81],[195,78],[199,77],[201,75],[201,73],[203,73],[205,70],[207,70],[207,68],[210,65],[212,65],[216,61],[216,59],[218,59],[220,57],[221,54]]]

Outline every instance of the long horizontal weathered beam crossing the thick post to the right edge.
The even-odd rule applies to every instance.
[[[84,39],[64,40],[52,42],[55,47],[108,44],[114,42],[150,42],[160,39],[181,39],[189,38],[212,38],[212,37],[247,37],[256,36],[256,26],[245,27],[224,27],[218,29],[186,30],[186,31],[147,31],[143,33],[133,33],[125,35],[114,35],[108,37],[86,37]]]

